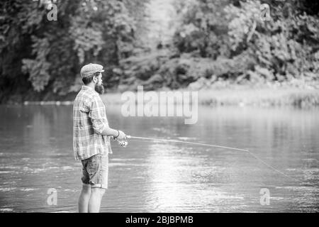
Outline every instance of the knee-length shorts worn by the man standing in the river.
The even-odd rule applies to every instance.
[[[87,187],[108,188],[108,155],[93,155],[82,162],[82,182]]]

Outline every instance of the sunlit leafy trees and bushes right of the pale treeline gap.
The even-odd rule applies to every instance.
[[[124,60],[122,90],[141,83],[147,89],[298,81],[318,87],[318,1],[197,0],[176,7],[181,17],[171,50]],[[268,12],[269,21],[262,20]]]

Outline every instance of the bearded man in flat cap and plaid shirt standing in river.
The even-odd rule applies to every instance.
[[[99,212],[101,199],[108,188],[108,154],[112,153],[110,138],[123,140],[125,133],[108,126],[106,110],[99,94],[103,94],[103,66],[84,65],[84,85],[73,106],[73,150],[82,162],[82,192],[79,212]]]

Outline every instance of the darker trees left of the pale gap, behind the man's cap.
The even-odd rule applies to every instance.
[[[142,26],[136,22],[145,2],[1,1],[0,102],[76,92],[79,69],[88,62],[105,65],[106,84],[116,86],[120,78],[112,70],[139,45],[135,35]]]

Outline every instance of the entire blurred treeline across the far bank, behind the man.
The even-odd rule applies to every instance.
[[[0,102],[77,92],[88,62],[106,66],[106,87],[119,91],[319,79],[318,1],[174,1],[177,31],[156,51],[143,45],[148,1],[1,1]]]

